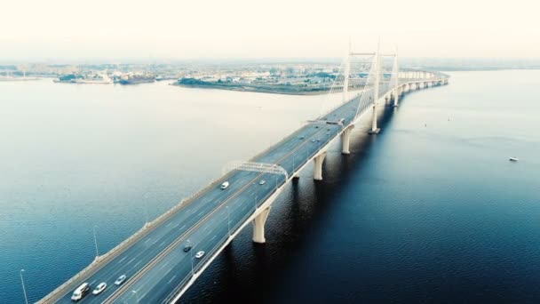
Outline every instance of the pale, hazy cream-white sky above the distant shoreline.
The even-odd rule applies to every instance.
[[[540,3],[484,0],[4,0],[0,61],[540,57]]]

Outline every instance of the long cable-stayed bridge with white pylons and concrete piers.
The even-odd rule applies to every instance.
[[[265,222],[275,198],[307,165],[314,164],[314,180],[322,180],[328,148],[340,140],[342,153],[349,154],[351,131],[362,116],[370,115],[369,132],[377,134],[377,108],[397,107],[404,93],[448,81],[439,72],[401,70],[397,52],[349,50],[328,94],[330,108],[249,161],[226,164],[218,180],[96,257],[39,303],[69,303],[79,285],[88,283],[93,289],[101,282],[107,283],[103,292],[90,292],[80,301],[179,300],[246,225],[253,225],[253,242],[266,242]],[[228,187],[221,187],[225,182]],[[198,252],[204,254],[199,257]],[[123,284],[114,284],[122,275],[127,276]]]

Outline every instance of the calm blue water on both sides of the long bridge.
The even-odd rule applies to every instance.
[[[362,121],[185,302],[540,302],[540,71],[452,73]],[[317,116],[324,96],[0,83],[0,302],[38,300]],[[367,117],[366,117],[367,118]],[[519,156],[511,163],[509,156]]]

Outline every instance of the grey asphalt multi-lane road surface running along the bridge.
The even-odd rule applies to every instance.
[[[353,121],[358,104],[358,98],[348,101],[324,118],[335,122],[344,118],[346,126]],[[324,122],[306,124],[252,161],[279,164],[292,176],[338,136],[342,128],[341,124]],[[157,303],[166,300],[175,288],[178,290],[187,283],[193,270],[197,271],[210,259],[212,252],[250,217],[256,206],[263,204],[286,182],[285,176],[280,174],[237,170],[229,172],[219,182],[225,180],[230,183],[228,188],[222,190],[218,185],[207,189],[161,225],[148,228],[138,242],[101,265],[91,276],[78,279],[76,285],[88,282],[92,290],[101,282],[107,283],[104,292],[89,293],[79,302]],[[260,185],[260,180],[266,183]],[[184,252],[188,243],[193,248]],[[206,252],[202,259],[195,258],[199,251]],[[121,275],[128,278],[123,285],[116,286],[114,282]],[[65,292],[58,302],[71,303],[75,287]]]

